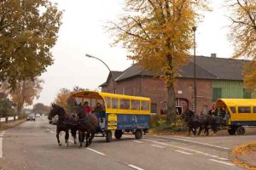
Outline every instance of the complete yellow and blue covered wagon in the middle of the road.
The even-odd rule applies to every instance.
[[[135,134],[142,139],[150,127],[150,99],[145,97],[108,94],[95,91],[80,91],[72,94],[77,104],[87,101],[92,108],[96,103],[103,106],[102,113],[97,113],[99,125],[97,133],[112,141],[112,132],[116,139],[124,133]]]

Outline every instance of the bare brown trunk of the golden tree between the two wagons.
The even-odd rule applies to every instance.
[[[166,122],[172,123],[176,121],[176,97],[174,93],[174,84],[173,82],[167,88],[168,91],[168,105],[167,105],[167,117]]]

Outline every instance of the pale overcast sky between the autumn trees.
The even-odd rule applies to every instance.
[[[106,81],[108,68],[97,59],[85,57],[91,54],[102,59],[112,71],[124,71],[132,64],[126,59],[125,49],[110,47],[113,41],[103,26],[107,20],[117,20],[122,14],[124,0],[51,0],[65,10],[59,38],[52,49],[54,65],[40,77],[44,79],[43,90],[33,104],[50,105],[61,88],[96,89]],[[204,21],[197,26],[196,55],[230,58],[232,47],[227,40],[229,20],[225,17],[223,0],[211,3],[212,12],[205,14]],[[191,50],[193,54],[193,50]]]

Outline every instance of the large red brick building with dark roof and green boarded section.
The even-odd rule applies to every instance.
[[[245,60],[196,56],[196,111],[207,113],[218,98],[252,98],[243,85],[242,69]],[[176,107],[183,112],[186,106],[194,110],[194,62],[181,67],[180,77],[175,82]],[[113,79],[112,79],[113,77]],[[114,82],[113,82],[114,80]],[[114,85],[113,85],[114,83]],[[151,99],[152,112],[166,112],[167,89],[159,77],[143,71],[139,65],[131,65],[125,71],[112,71],[100,87],[102,92],[145,96]]]

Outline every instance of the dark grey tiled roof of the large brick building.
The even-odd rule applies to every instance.
[[[219,80],[243,80],[242,70],[247,61],[243,59],[228,59],[217,57],[196,56],[195,57],[195,71],[196,78],[203,79],[219,79]],[[149,71],[143,71],[140,65],[131,65],[125,71],[119,72],[119,77],[115,77],[115,81],[123,81],[127,78],[136,76],[153,76]],[[194,77],[194,59],[188,65],[181,66],[180,77],[192,78]],[[108,75],[109,79],[109,75]],[[108,80],[107,80],[108,82]],[[108,85],[105,82],[101,86]]]

